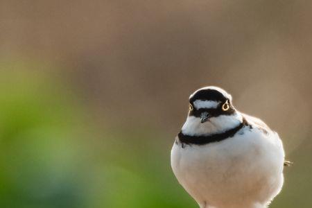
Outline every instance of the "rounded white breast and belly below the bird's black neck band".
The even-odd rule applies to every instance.
[[[283,164],[277,133],[257,128],[202,146],[173,144],[171,150],[177,180],[200,207],[266,207],[281,190]]]

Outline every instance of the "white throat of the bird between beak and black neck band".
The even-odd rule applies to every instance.
[[[184,135],[189,136],[214,135],[235,128],[241,122],[243,122],[243,116],[240,112],[212,117],[205,123],[200,123],[200,118],[196,116],[187,116],[187,121],[185,121],[181,131]]]

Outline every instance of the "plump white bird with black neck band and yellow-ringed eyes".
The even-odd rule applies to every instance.
[[[224,89],[202,87],[189,96],[171,168],[200,208],[268,207],[283,186],[284,166],[292,164],[284,158],[277,132],[236,110]]]

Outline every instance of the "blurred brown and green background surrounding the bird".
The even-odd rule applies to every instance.
[[[0,0],[0,207],[197,207],[170,150],[206,85],[283,139],[270,207],[311,207],[311,19],[311,1]]]

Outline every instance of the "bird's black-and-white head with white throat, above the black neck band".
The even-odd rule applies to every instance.
[[[232,96],[220,87],[202,87],[189,97],[189,115],[182,127],[187,135],[209,135],[233,128],[242,120]]]

